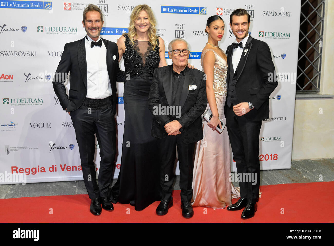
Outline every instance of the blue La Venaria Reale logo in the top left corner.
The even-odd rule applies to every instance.
[[[1,1],[0,8],[9,9],[52,9],[52,2],[43,1]]]

